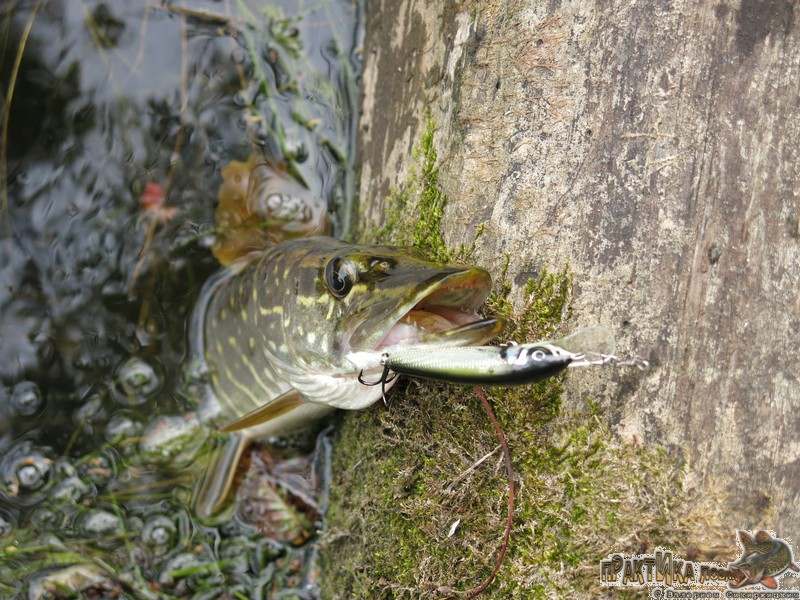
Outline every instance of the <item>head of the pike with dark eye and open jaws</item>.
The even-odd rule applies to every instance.
[[[478,309],[491,277],[478,267],[437,264],[413,250],[331,238],[293,242],[286,265],[284,331],[296,359],[352,370],[351,352],[397,344],[480,344],[498,333]],[[289,316],[287,323],[286,316]]]

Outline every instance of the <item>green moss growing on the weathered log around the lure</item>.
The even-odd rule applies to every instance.
[[[442,236],[432,121],[409,180],[394,190],[370,241],[408,244],[438,260],[470,258]],[[511,301],[508,258],[487,314],[507,319],[504,340],[566,333],[568,266],[542,268]],[[684,487],[680,460],[619,440],[591,399],[562,402],[569,376],[495,388],[490,399],[517,475],[508,556],[485,592],[495,598],[597,597],[598,565],[613,551],[685,550],[722,535],[716,506]],[[471,389],[398,384],[391,405],[348,413],[334,446],[334,484],[323,542],[323,597],[416,598],[465,592],[488,575],[506,511],[502,456]]]

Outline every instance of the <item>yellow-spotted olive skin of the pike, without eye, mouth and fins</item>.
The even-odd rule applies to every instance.
[[[348,265],[354,275],[343,297],[326,281],[332,261]],[[455,282],[448,284],[452,297],[442,294],[439,301],[472,310],[491,283],[482,269],[437,265],[407,249],[328,237],[290,240],[264,251],[218,286],[205,314],[204,354],[219,421],[293,389],[318,405],[320,414],[375,402],[380,390],[358,382],[346,355],[373,349],[444,280]]]

